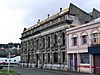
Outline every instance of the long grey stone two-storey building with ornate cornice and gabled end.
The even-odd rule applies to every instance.
[[[38,20],[37,24],[24,28],[20,38],[21,65],[67,70],[65,31],[92,19],[94,19],[92,15],[70,4],[69,8],[64,10],[60,8],[55,15],[48,14],[47,19]]]

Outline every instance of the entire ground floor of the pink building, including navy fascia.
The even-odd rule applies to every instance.
[[[100,73],[100,47],[90,47],[88,52],[67,53],[69,71]]]

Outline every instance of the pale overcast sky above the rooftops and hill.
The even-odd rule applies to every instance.
[[[0,43],[20,43],[24,27],[47,18],[48,13],[57,13],[59,8],[68,8],[70,3],[87,12],[100,10],[99,0],[0,0]]]

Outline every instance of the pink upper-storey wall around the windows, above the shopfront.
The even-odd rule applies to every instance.
[[[87,52],[88,50],[87,47],[91,46],[91,40],[92,40],[92,34],[94,32],[99,33],[99,43],[100,43],[100,23],[95,23],[95,24],[85,24],[81,25],[79,27],[74,27],[69,30],[66,30],[66,42],[67,42],[67,51],[70,50],[69,52],[77,52],[77,50],[81,50],[80,52]],[[87,35],[87,43],[82,44],[82,35]],[[77,37],[77,46],[73,46],[73,41],[72,38]]]

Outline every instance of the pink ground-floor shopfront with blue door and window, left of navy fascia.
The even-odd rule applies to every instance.
[[[92,55],[87,53],[70,53],[67,55],[68,70],[92,73]]]

